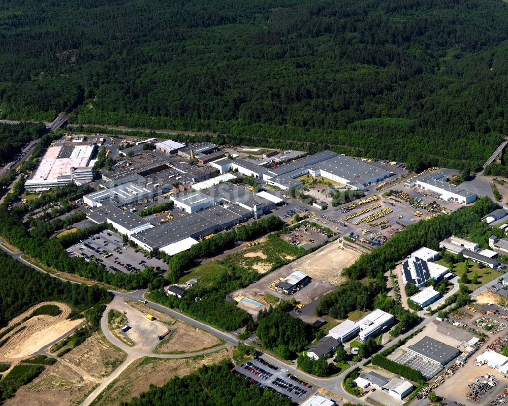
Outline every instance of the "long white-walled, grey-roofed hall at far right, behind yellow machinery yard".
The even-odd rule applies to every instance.
[[[446,202],[452,200],[462,204],[469,204],[477,198],[474,193],[448,183],[448,178],[442,172],[432,171],[424,173],[408,180],[405,185],[409,188],[416,186],[422,191],[427,191],[429,195]]]

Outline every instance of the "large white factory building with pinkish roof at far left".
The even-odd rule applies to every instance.
[[[92,155],[97,145],[58,143],[50,146],[39,166],[25,181],[25,189],[47,191],[70,183],[83,184],[93,180]]]

